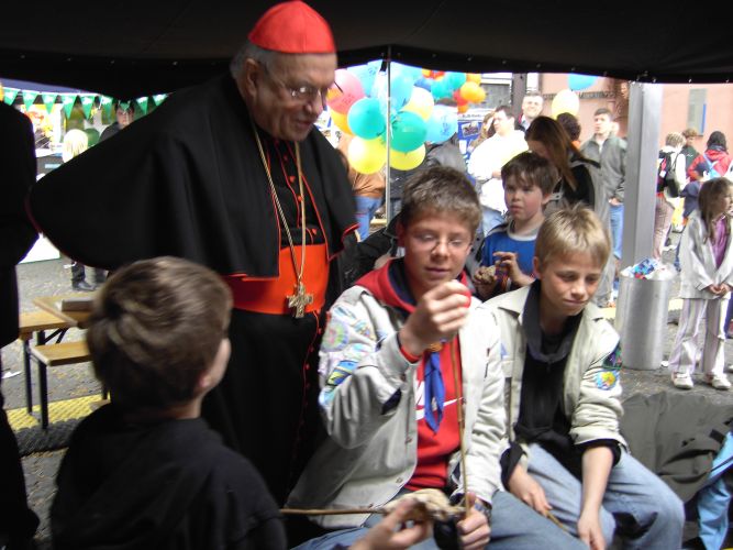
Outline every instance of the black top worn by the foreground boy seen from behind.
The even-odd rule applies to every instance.
[[[200,418],[130,424],[104,406],[75,431],[56,483],[58,550],[286,548],[262,477]]]

